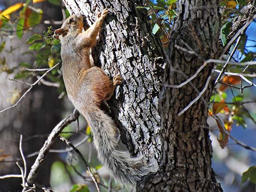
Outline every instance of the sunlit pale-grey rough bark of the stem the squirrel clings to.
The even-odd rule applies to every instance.
[[[108,8],[100,41],[93,50],[94,64],[111,77],[119,73],[123,84],[109,102],[119,126],[121,140],[131,153],[140,152],[151,162],[161,154],[158,109],[163,51],[146,11],[139,1],[66,1],[72,14],[82,13],[91,25],[96,14]]]

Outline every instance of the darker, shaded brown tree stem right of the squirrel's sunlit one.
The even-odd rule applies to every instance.
[[[204,60],[217,58],[218,55],[218,0],[180,0],[177,5],[178,18],[170,35],[172,38],[163,80],[171,85],[184,82],[196,72]],[[186,49],[191,47],[190,51],[196,52],[200,57],[181,51],[175,45]],[[209,129],[205,128],[208,127],[208,106],[201,99],[178,116],[198,96],[198,91],[204,88],[211,70],[212,66],[206,67],[192,81],[196,88],[187,84],[180,89],[162,90],[162,166],[141,191],[222,191],[211,168],[212,148]],[[212,84],[202,97],[206,103],[211,92]]]

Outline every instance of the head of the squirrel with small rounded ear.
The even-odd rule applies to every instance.
[[[71,15],[66,19],[62,24],[62,27],[54,31],[53,38],[60,39],[65,36],[77,36],[79,33],[82,33],[82,28],[84,26],[85,16],[84,15]]]

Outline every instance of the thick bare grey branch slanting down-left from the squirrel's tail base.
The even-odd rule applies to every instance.
[[[60,132],[62,132],[62,130],[67,125],[69,125],[71,122],[76,121],[78,116],[79,116],[79,113],[75,109],[74,112],[71,115],[69,115],[68,117],[66,117],[62,121],[60,121],[58,123],[58,125],[53,128],[52,132],[50,133],[50,135],[48,136],[47,140],[45,141],[44,146],[41,148],[41,150],[39,152],[39,155],[36,158],[35,163],[33,164],[32,168],[31,168],[31,171],[28,174],[28,178],[27,178],[28,184],[33,184],[34,183],[36,175],[38,174],[38,170],[39,170],[40,166],[44,162],[45,157],[47,156],[48,151],[50,150],[50,147],[52,146],[54,141],[57,139],[57,137],[60,134]]]

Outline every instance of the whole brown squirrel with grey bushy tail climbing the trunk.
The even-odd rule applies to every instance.
[[[53,38],[61,42],[63,79],[69,100],[86,118],[94,135],[94,146],[99,160],[107,165],[111,175],[122,183],[136,184],[142,176],[152,171],[142,163],[142,157],[130,157],[129,151],[119,151],[118,128],[101,108],[109,100],[122,78],[116,75],[111,80],[99,67],[92,66],[90,50],[108,10],[97,14],[92,26],[82,32],[84,15],[71,15],[54,31]]]

